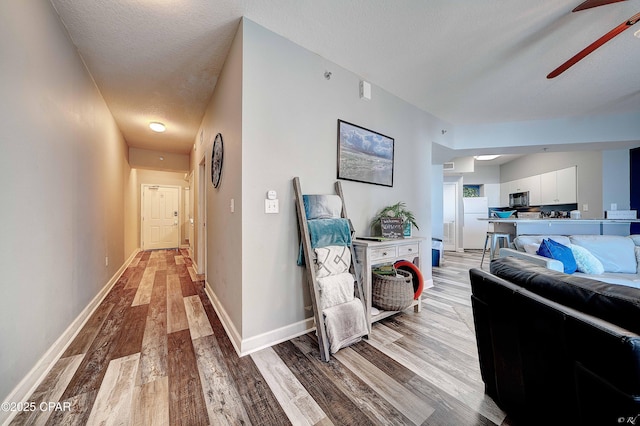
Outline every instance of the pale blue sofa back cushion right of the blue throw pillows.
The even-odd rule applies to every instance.
[[[571,244],[584,247],[604,267],[605,272],[635,274],[637,262],[635,244],[629,237],[620,235],[572,235]]]

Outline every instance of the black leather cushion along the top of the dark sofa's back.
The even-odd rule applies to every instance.
[[[492,260],[491,273],[554,302],[640,333],[640,289],[550,271],[514,257]]]

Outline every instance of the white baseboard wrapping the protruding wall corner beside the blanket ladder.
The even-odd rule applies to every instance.
[[[220,304],[220,300],[215,295],[213,289],[208,282],[205,282],[205,292],[213,304],[213,308],[218,314],[222,326],[227,332],[227,336],[231,340],[234,349],[238,356],[243,357],[253,352],[257,352],[261,349],[268,348],[278,343],[285,342],[293,339],[294,337],[301,336],[315,330],[315,325],[312,318],[307,318],[303,321],[299,321],[294,324],[290,324],[276,330],[271,330],[258,336],[253,336],[248,339],[242,339],[240,333],[235,328],[229,315],[225,311],[224,307]]]

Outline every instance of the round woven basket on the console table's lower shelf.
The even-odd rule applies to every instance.
[[[413,279],[411,273],[398,269],[398,276],[373,273],[371,302],[385,311],[402,311],[413,303]]]

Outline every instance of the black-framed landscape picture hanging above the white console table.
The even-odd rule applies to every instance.
[[[393,186],[395,140],[338,120],[338,179]]]

